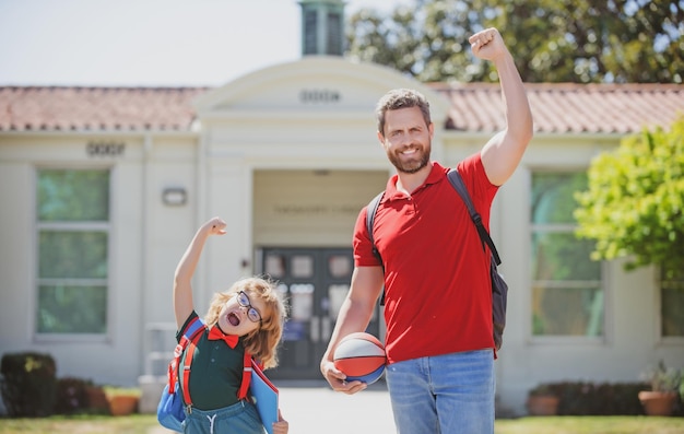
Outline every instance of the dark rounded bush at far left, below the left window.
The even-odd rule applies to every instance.
[[[9,415],[40,418],[51,414],[57,388],[56,371],[55,360],[49,354],[4,354],[0,362],[0,390]]]

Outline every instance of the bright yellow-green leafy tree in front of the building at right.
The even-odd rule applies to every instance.
[[[684,115],[669,130],[644,129],[591,162],[576,195],[577,235],[595,239],[592,258],[657,265],[665,278],[684,263]]]

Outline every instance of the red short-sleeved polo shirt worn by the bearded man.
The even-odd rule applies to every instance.
[[[458,169],[488,228],[497,187],[484,172],[480,153]],[[374,223],[385,263],[389,363],[428,355],[494,348],[490,254],[483,251],[468,209],[433,163],[425,184],[408,197],[387,184]],[[366,231],[366,209],[354,230],[356,267],[378,266]]]

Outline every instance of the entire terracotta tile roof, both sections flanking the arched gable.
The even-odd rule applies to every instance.
[[[450,103],[447,129],[505,127],[497,83],[429,86]],[[684,85],[527,83],[536,132],[632,133],[684,114]],[[210,87],[0,86],[0,131],[189,131]]]

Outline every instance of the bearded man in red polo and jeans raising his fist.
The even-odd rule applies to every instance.
[[[488,227],[494,196],[532,138],[532,116],[498,31],[487,28],[469,42],[477,58],[494,62],[506,108],[507,128],[457,166]],[[382,259],[372,251],[364,209],[354,230],[351,289],[321,373],[337,391],[366,388],[345,382],[332,356],[340,339],[366,329],[385,285],[386,379],[397,432],[493,433],[496,354],[490,254],[447,179],[448,168],[429,160],[435,127],[425,97],[411,90],[391,91],[378,103],[377,116],[378,140],[397,168],[373,230]]]

